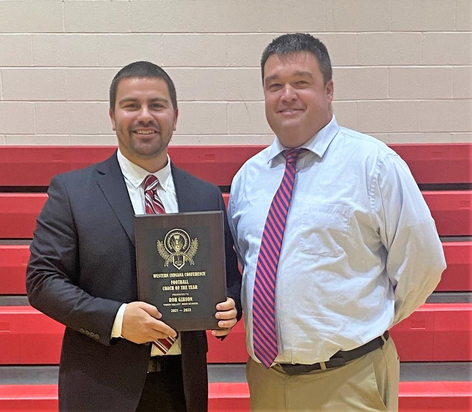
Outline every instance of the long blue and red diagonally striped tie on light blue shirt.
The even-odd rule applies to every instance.
[[[275,278],[285,222],[295,184],[296,159],[307,149],[284,150],[285,173],[267,214],[257,260],[252,302],[254,354],[268,368],[278,354],[275,333]]]

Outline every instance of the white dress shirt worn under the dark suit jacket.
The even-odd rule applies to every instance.
[[[128,189],[129,198],[133,205],[135,215],[146,214],[146,203],[144,198],[144,181],[149,174],[153,174],[159,180],[157,185],[157,194],[159,195],[166,213],[177,213],[177,194],[174,186],[174,179],[171,172],[171,160],[167,155],[167,165],[155,173],[149,173],[142,167],[135,165],[126,159],[118,149],[118,164],[123,173],[126,188]],[[115,323],[113,324],[112,337],[121,337],[121,326],[123,323],[124,309],[126,303],[123,303],[118,309]],[[171,346],[166,355],[179,355],[180,350],[180,336]],[[163,355],[154,345],[152,345],[151,356]]]

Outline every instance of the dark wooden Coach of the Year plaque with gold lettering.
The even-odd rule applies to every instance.
[[[223,212],[135,215],[138,297],[182,330],[219,329],[226,301]]]

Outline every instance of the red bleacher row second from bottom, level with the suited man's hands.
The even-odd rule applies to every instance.
[[[470,303],[426,303],[390,332],[402,361],[472,361],[471,329]],[[30,306],[0,307],[0,364],[59,363],[63,332]],[[223,342],[207,333],[209,363],[247,360],[242,322]]]

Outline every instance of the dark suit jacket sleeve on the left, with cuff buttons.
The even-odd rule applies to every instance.
[[[109,345],[122,302],[91,296],[78,286],[80,245],[63,176],[53,178],[48,195],[30,246],[29,302],[66,327]]]

